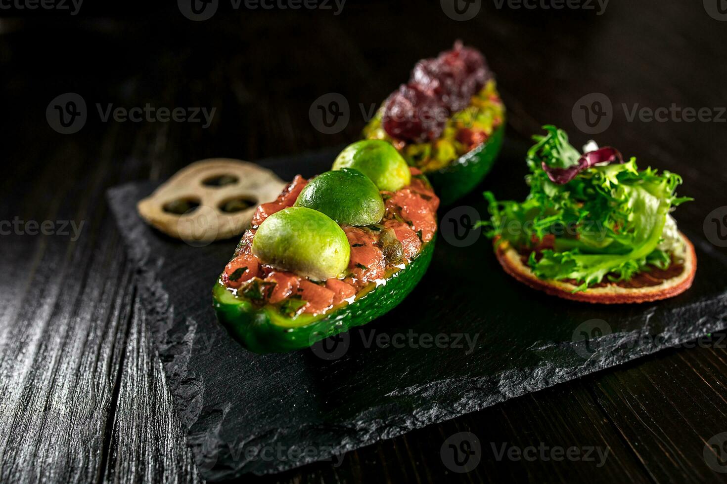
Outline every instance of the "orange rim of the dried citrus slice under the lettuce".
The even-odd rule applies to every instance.
[[[694,245],[681,232],[680,237],[686,244],[683,270],[676,276],[663,279],[661,283],[647,287],[621,287],[608,283],[603,287],[590,287],[585,291],[573,292],[577,285],[565,281],[539,279],[522,261],[522,256],[508,242],[495,240],[497,260],[507,274],[533,289],[558,296],[558,298],[599,304],[647,303],[673,298],[691,287],[696,273],[696,253]]]

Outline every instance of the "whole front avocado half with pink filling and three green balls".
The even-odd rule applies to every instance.
[[[306,348],[386,313],[422,278],[439,200],[387,146],[354,144],[334,170],[296,176],[257,208],[212,290],[217,319],[246,348]]]

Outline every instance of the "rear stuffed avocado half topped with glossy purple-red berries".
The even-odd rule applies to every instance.
[[[419,61],[364,128],[425,173],[443,205],[482,181],[504,134],[505,106],[484,57],[460,43]]]

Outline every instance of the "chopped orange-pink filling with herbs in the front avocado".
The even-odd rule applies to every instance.
[[[412,176],[421,173],[417,168],[410,170]],[[308,181],[302,176],[296,176],[275,202],[263,203],[257,208],[253,226],[259,226],[271,213],[291,207],[307,183]],[[269,285],[261,292],[263,303],[276,304],[289,297],[300,298],[306,302],[300,308],[304,313],[324,313],[334,305],[343,303],[366,287],[369,282],[386,276],[386,271],[391,265],[387,264],[382,248],[379,247],[382,232],[393,231],[396,239],[401,242],[403,257],[406,261],[411,261],[421,250],[422,240],[429,241],[436,231],[435,213],[439,199],[424,181],[412,178],[409,186],[397,192],[382,192],[382,194],[387,196],[387,210],[381,225],[377,226],[378,229],[343,227],[351,246],[348,274],[345,279],[328,279],[324,286],[291,272],[277,271],[260,263],[250,250],[255,229],[249,229],[242,236],[235,258],[225,267],[221,277],[222,284],[244,290],[244,284],[250,282],[267,283]],[[243,268],[245,270],[241,270]],[[238,272],[235,274],[235,271]],[[231,280],[230,275],[236,277],[236,280]]]

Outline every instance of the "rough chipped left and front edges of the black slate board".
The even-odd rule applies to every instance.
[[[145,184],[150,190],[151,185]],[[118,186],[108,190],[108,198],[111,202],[111,208],[116,216],[119,225],[123,228],[134,226],[129,223],[131,218],[136,218],[134,211],[124,213],[123,199],[133,197],[134,193],[146,186],[132,183]],[[143,229],[143,226],[141,226]],[[500,403],[509,398],[525,395],[526,393],[542,390],[561,382],[573,380],[577,377],[583,377],[587,374],[597,372],[602,369],[608,369],[611,366],[632,361],[640,356],[646,356],[656,351],[672,348],[675,345],[687,343],[696,337],[706,333],[717,332],[727,327],[727,293],[712,300],[702,300],[692,305],[677,308],[672,311],[675,320],[683,321],[678,327],[670,327],[667,331],[660,334],[651,335],[648,332],[650,328],[649,318],[646,319],[642,329],[633,332],[614,333],[605,335],[593,340],[596,342],[596,350],[592,358],[584,361],[574,371],[566,364],[569,361],[563,361],[563,366],[553,364],[552,362],[545,366],[537,366],[529,369],[518,370],[517,372],[503,372],[497,378],[457,378],[452,380],[438,380],[430,382],[427,385],[418,385],[417,387],[408,387],[401,391],[390,393],[387,396],[391,398],[419,398],[420,401],[429,401],[429,405],[422,406],[411,416],[391,417],[390,412],[396,407],[396,403],[389,402],[385,406],[379,406],[368,412],[359,414],[356,419],[350,422],[344,422],[335,426],[321,428],[320,425],[302,427],[294,432],[286,432],[278,430],[275,436],[297,434],[298,441],[301,442],[300,447],[314,445],[310,440],[306,440],[311,433],[320,434],[328,432],[330,439],[340,442],[336,451],[322,450],[315,457],[302,457],[296,461],[284,462],[266,462],[261,465],[260,461],[244,462],[239,456],[230,455],[230,448],[227,446],[223,452],[220,449],[221,439],[219,432],[222,422],[224,421],[227,411],[214,411],[202,415],[204,398],[204,382],[188,372],[186,363],[192,351],[193,338],[185,338],[185,343],[180,345],[176,341],[174,348],[169,348],[165,344],[165,335],[174,321],[174,308],[169,304],[169,295],[164,291],[161,280],[158,279],[154,268],[161,265],[162,260],[153,258],[150,250],[145,245],[140,245],[142,237],[137,237],[134,232],[126,230],[121,231],[124,234],[125,242],[129,249],[129,256],[132,261],[138,264],[142,303],[147,311],[148,321],[153,326],[153,332],[157,335],[157,349],[164,363],[164,372],[168,378],[169,387],[174,395],[177,406],[177,412],[180,414],[182,422],[190,429],[188,440],[192,446],[195,461],[200,467],[201,475],[206,480],[223,480],[232,477],[239,477],[252,472],[257,475],[281,472],[294,467],[300,467],[310,462],[318,460],[331,459],[334,455],[345,454],[356,448],[370,445],[377,440],[393,438],[401,435],[409,430],[424,427],[428,424],[443,422],[444,420],[458,417],[462,414],[485,409],[495,403]],[[132,241],[134,241],[132,243]],[[702,247],[713,253],[710,247]],[[699,275],[697,275],[699,276]],[[652,308],[650,314],[656,311],[656,307]],[[710,313],[712,316],[697,316],[699,313]],[[692,321],[692,322],[689,322]],[[188,335],[193,335],[196,329],[194,321],[189,319],[185,321],[188,326]],[[653,341],[655,337],[659,338],[658,344],[643,345],[645,340]],[[645,338],[646,337],[646,338]],[[547,353],[550,348],[557,346],[573,347],[577,343],[553,343],[542,342],[541,345],[533,346],[531,349],[539,353]],[[631,345],[631,348],[639,348],[633,352],[631,349],[626,354],[619,348],[624,345]],[[572,351],[574,358],[577,358],[577,352]],[[185,382],[182,385],[181,382]],[[456,392],[450,389],[456,388]],[[447,401],[448,396],[452,393],[458,393],[462,396],[456,401]],[[177,398],[179,397],[179,398]],[[204,428],[206,431],[192,432],[192,426],[196,429]],[[265,440],[270,441],[270,435],[265,436]],[[273,438],[275,440],[275,438]],[[244,442],[245,445],[254,444],[253,441]],[[239,449],[238,449],[239,450]],[[225,464],[233,464],[235,467],[225,469]],[[248,465],[250,464],[250,465]],[[222,467],[222,468],[220,468]]]

